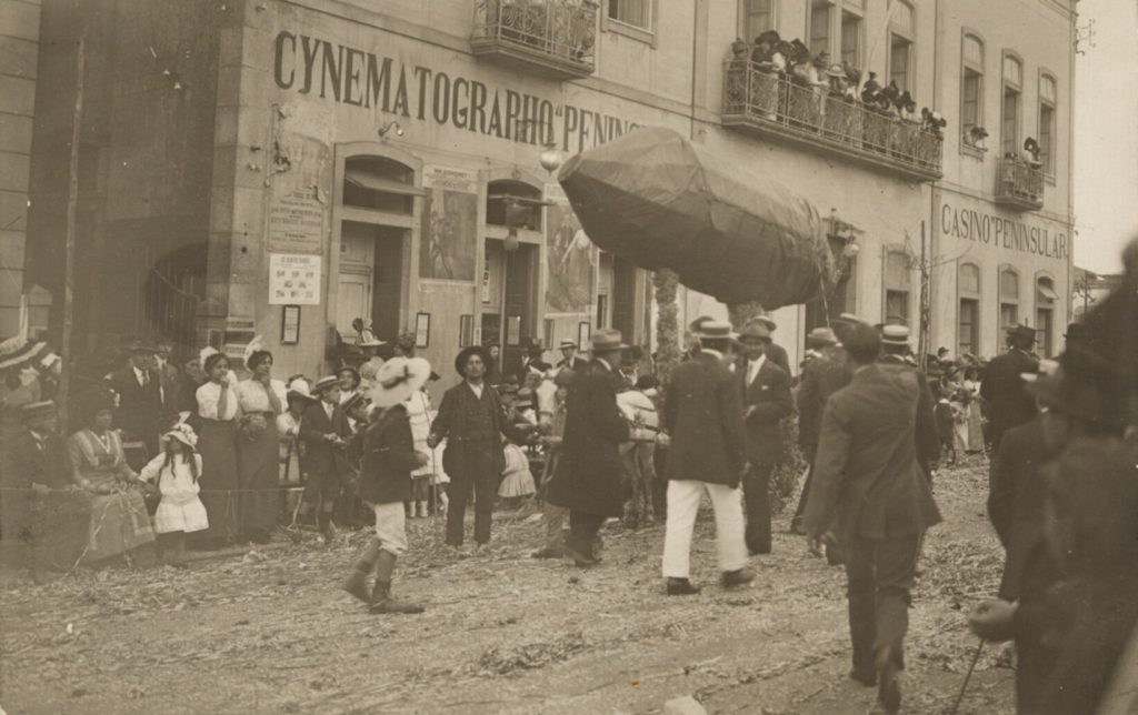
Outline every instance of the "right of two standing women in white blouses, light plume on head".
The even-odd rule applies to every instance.
[[[277,417],[288,404],[284,383],[272,379],[273,356],[255,349],[246,359],[253,373],[237,385],[241,424],[237,473],[241,484],[241,527],[256,543],[269,541],[281,510],[280,433]]]

